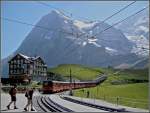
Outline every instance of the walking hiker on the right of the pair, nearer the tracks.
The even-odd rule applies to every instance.
[[[27,105],[24,108],[25,111],[28,111],[27,108],[29,107],[29,105],[31,105],[31,111],[34,111],[34,109],[33,109],[33,102],[32,102],[32,97],[33,97],[34,89],[35,88],[29,89],[25,93],[25,97],[27,97]]]

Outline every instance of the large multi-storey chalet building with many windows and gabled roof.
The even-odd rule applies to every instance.
[[[9,63],[9,78],[14,82],[30,82],[47,76],[47,65],[40,56],[15,55]]]

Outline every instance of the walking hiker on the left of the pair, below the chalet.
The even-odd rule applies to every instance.
[[[17,85],[15,84],[13,88],[9,90],[9,94],[11,96],[11,102],[7,105],[7,108],[10,109],[10,105],[14,102],[14,109],[17,109],[16,107],[16,93],[17,93]]]

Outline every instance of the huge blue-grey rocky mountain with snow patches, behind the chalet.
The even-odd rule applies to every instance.
[[[49,67],[58,64],[118,66],[132,64],[141,57],[133,51],[135,43],[118,28],[99,21],[72,20],[58,11],[41,18],[20,47],[2,60],[3,75],[8,75],[8,60],[22,53],[41,56]],[[94,36],[94,37],[93,37]]]

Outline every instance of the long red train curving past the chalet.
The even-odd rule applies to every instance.
[[[107,79],[106,75],[102,75],[96,80],[86,81],[86,82],[62,82],[62,81],[43,81],[43,93],[58,93],[67,91],[70,89],[80,89],[80,88],[88,88],[95,87],[96,85],[102,83]]]

